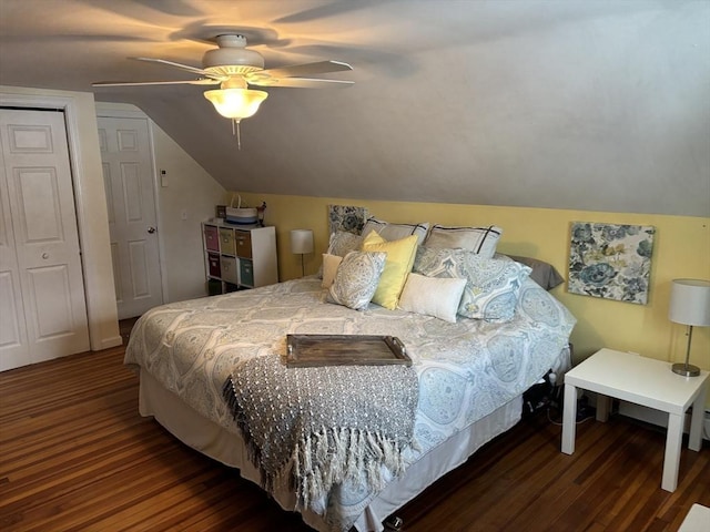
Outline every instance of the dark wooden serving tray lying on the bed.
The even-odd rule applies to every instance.
[[[286,367],[412,366],[402,341],[394,336],[286,335]]]

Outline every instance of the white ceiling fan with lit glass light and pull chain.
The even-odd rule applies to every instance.
[[[253,116],[260,104],[268,95],[265,91],[251,90],[256,86],[285,88],[325,88],[349,86],[352,81],[308,78],[329,72],[342,72],[353,68],[341,61],[317,61],[264,70],[264,58],[261,53],[246,48],[246,37],[241,33],[223,33],[214,40],[219,48],[207,50],[202,57],[202,68],[176,63],[156,58],[129,58],[138,61],[160,63],[197,74],[193,80],[178,81],[99,81],[92,86],[126,85],[220,85],[220,89],[206,91],[204,96],[212,102],[216,111],[232,120],[233,132],[241,147],[239,124],[242,119]]]

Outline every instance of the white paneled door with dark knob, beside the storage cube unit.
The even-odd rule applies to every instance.
[[[148,120],[99,116],[119,319],[163,303]]]

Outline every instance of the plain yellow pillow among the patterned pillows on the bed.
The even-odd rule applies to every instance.
[[[412,272],[414,257],[417,253],[417,236],[412,235],[399,241],[385,241],[372,231],[363,241],[363,252],[385,252],[387,260],[379,277],[379,284],[373,296],[373,303],[390,310],[397,308],[399,294]]]

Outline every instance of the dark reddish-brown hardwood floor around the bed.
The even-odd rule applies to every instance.
[[[237,472],[138,413],[123,348],[0,374],[0,530],[307,531]],[[405,532],[676,531],[710,507],[710,447],[683,449],[660,489],[665,433],[615,416],[578,427],[526,419],[398,515]]]

